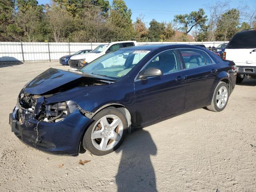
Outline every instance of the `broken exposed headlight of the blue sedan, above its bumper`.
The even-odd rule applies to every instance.
[[[46,122],[58,122],[72,114],[77,109],[77,104],[73,101],[65,101],[46,105]]]

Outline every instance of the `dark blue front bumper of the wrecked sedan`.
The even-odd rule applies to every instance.
[[[16,119],[17,110],[16,106],[9,117],[12,132],[24,143],[53,154],[77,156],[82,135],[92,122],[92,119],[85,117],[78,109],[59,122],[38,123],[30,113],[26,113],[24,121],[19,122]]]

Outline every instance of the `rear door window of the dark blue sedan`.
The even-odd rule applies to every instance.
[[[206,65],[202,51],[195,49],[180,49],[186,68]]]

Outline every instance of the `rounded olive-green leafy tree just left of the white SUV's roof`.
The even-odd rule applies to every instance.
[[[230,40],[238,32],[238,25],[239,11],[237,9],[230,9],[222,14],[216,29],[216,40]]]

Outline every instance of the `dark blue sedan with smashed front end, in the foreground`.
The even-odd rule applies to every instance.
[[[197,108],[224,110],[235,84],[234,62],[198,46],[121,48],[78,71],[50,68],[28,82],[10,126],[40,150],[76,156],[82,146],[105,155],[134,128]]]

